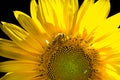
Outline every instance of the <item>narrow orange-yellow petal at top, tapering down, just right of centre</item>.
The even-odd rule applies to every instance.
[[[64,20],[66,25],[66,32],[68,33],[70,29],[74,26],[76,21],[76,15],[78,12],[78,0],[61,0],[63,4]]]

